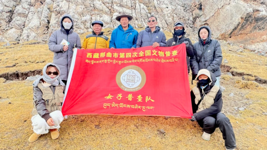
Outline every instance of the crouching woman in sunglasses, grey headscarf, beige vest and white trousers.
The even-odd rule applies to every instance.
[[[33,134],[29,142],[34,142],[50,130],[53,140],[59,136],[60,123],[63,120],[61,105],[64,98],[65,84],[59,78],[60,69],[48,63],[43,69],[42,77],[33,83],[34,109],[32,114]]]

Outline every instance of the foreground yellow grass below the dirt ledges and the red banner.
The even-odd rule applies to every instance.
[[[32,134],[32,82],[7,81],[0,84],[0,149],[224,149],[221,132],[216,129],[210,141],[188,119],[148,116],[69,116],[60,128],[60,137],[49,134],[28,143]],[[260,94],[265,93],[265,94]],[[267,90],[250,90],[253,104],[239,117],[228,116],[233,125],[237,149],[262,149],[267,146]],[[9,104],[11,102],[11,104]],[[238,121],[238,123],[237,123]],[[158,132],[163,129],[166,134]],[[257,141],[255,141],[257,139]]]

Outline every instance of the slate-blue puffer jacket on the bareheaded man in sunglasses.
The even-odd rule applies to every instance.
[[[136,43],[136,48],[152,46],[153,43],[159,43],[159,46],[165,47],[166,45],[166,36],[160,31],[160,27],[156,27],[156,30],[152,33],[149,27],[146,27],[145,30],[140,31],[138,34],[138,39]]]

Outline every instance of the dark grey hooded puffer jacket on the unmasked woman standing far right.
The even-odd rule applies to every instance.
[[[221,76],[220,66],[222,64],[221,45],[217,40],[211,40],[211,30],[209,26],[202,26],[202,27],[208,29],[209,36],[204,44],[203,39],[201,39],[199,36],[200,30],[198,31],[199,41],[194,44],[195,55],[194,57],[190,57],[190,67],[192,70],[193,77],[195,77],[198,74],[198,71],[201,69],[207,69],[210,72],[214,73],[215,77],[219,77]],[[201,54],[206,48],[207,50],[204,56],[198,63]]]

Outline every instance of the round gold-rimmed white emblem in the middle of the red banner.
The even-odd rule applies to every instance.
[[[142,89],[145,85],[146,74],[138,66],[127,66],[117,73],[116,82],[122,90],[135,92]]]

